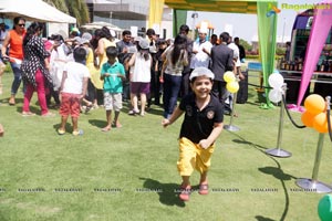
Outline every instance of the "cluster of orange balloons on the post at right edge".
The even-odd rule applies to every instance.
[[[326,103],[318,94],[309,95],[304,101],[305,112],[301,116],[307,127],[313,127],[319,133],[328,133]],[[330,119],[332,120],[331,116]]]

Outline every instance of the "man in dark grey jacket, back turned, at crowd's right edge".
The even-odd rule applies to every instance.
[[[224,74],[227,71],[234,70],[234,52],[227,46],[229,34],[222,32],[219,36],[219,45],[211,49],[211,71],[215,74],[215,82],[212,86],[212,94],[217,96],[220,103],[224,105],[227,98],[226,82],[224,81]]]

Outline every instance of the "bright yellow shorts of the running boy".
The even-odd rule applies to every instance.
[[[215,145],[204,149],[198,144],[183,137],[179,139],[179,159],[177,169],[180,176],[190,176],[194,169],[200,173],[207,171],[211,166],[211,155],[215,150]]]

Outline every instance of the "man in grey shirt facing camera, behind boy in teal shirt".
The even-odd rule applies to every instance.
[[[128,59],[128,48],[135,46],[132,42],[132,32],[128,30],[124,30],[122,32],[122,40],[116,42],[116,50],[117,50],[117,59],[118,62],[125,66],[125,61]],[[129,99],[129,77],[128,73],[126,72],[126,81],[123,81],[123,99]]]

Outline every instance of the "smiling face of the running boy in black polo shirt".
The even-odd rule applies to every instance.
[[[207,76],[198,76],[190,86],[197,98],[205,99],[212,90],[212,82]]]

